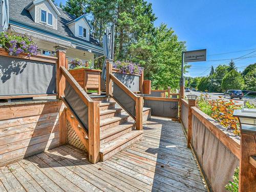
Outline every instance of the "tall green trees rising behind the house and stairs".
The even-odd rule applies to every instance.
[[[68,0],[64,9],[80,16],[86,12],[93,27],[93,37],[102,42],[106,27],[115,25],[115,60],[132,61],[144,68],[152,87],[179,87],[181,53],[185,42],[179,41],[172,28],[154,27],[152,4],[144,0]],[[95,66],[102,68],[102,59]],[[188,66],[185,66],[185,69]],[[185,71],[185,70],[184,70]]]

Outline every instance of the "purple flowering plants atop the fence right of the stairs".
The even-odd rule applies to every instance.
[[[116,61],[113,65],[113,68],[119,70],[120,73],[139,73],[141,74],[143,68],[140,67],[137,63],[133,63],[130,61]]]

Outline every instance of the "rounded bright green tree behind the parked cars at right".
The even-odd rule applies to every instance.
[[[244,79],[239,72],[231,70],[222,79],[221,87],[222,90],[242,89],[244,87]]]

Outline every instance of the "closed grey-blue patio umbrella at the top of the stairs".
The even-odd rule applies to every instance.
[[[109,28],[106,28],[103,36],[103,52],[105,59],[114,58],[114,25],[111,26],[111,31]],[[106,61],[104,60],[102,67],[101,78],[106,80]]]

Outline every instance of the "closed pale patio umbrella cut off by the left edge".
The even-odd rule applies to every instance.
[[[0,31],[6,31],[9,25],[9,1],[8,0],[0,0],[0,1],[1,1]]]

